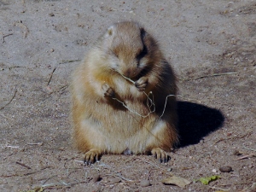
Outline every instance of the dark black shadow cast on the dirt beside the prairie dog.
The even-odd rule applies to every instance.
[[[224,123],[224,115],[217,109],[193,102],[177,102],[178,130],[180,144],[185,147],[196,144]]]

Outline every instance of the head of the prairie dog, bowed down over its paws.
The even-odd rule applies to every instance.
[[[131,21],[110,26],[101,46],[108,55],[109,67],[131,79],[150,71],[159,52],[154,38]]]

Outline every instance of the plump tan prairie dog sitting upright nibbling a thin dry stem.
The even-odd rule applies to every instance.
[[[94,163],[102,154],[153,154],[178,142],[172,67],[137,22],[110,26],[73,73],[73,138]],[[166,102],[166,97],[168,97]]]

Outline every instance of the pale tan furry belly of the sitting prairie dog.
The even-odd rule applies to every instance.
[[[141,102],[128,102],[125,110],[109,110],[108,113],[95,113],[83,120],[82,127],[90,129],[90,141],[97,148],[104,148],[106,153],[123,153],[129,149],[133,154],[143,153],[148,141],[154,139],[152,131],[157,124],[158,117],[152,113],[148,117],[148,108]],[[104,104],[101,105],[101,107]],[[99,108],[98,110],[104,110]],[[155,132],[155,131],[154,131]],[[157,131],[156,131],[157,132]],[[99,140],[98,138],[101,138]]]

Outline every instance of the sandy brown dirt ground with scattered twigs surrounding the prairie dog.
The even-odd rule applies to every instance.
[[[120,20],[145,26],[179,79],[181,143],[166,164],[84,166],[72,145],[70,74]],[[0,0],[0,82],[0,191],[256,191],[255,0]],[[191,183],[161,183],[172,175]]]

